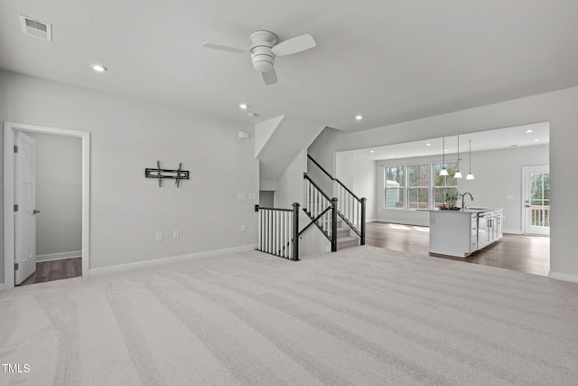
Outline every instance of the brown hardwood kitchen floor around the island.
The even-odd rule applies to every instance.
[[[431,259],[460,260],[542,276],[548,276],[550,269],[550,239],[547,237],[505,234],[501,240],[461,259],[430,256],[429,227],[368,222],[366,231],[367,245],[415,253]]]

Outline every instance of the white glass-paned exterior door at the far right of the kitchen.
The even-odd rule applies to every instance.
[[[548,166],[523,168],[524,225],[526,234],[550,234],[550,169]]]

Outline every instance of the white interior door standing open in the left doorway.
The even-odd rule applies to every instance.
[[[36,172],[32,137],[14,133],[14,284],[18,285],[36,270]],[[14,208],[15,209],[15,208]]]

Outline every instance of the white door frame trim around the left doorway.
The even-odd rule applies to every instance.
[[[14,288],[14,132],[33,132],[82,139],[82,277],[89,276],[90,261],[90,133],[68,128],[4,123],[4,283]]]

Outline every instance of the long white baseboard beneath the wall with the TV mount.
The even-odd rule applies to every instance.
[[[198,253],[191,253],[189,255],[173,256],[171,258],[139,261],[136,263],[120,264],[117,266],[104,267],[104,268],[93,268],[93,269],[89,269],[89,277],[94,278],[94,277],[98,277],[98,276],[110,275],[113,273],[126,272],[126,271],[130,271],[130,270],[138,269],[138,268],[156,267],[156,266],[162,266],[165,264],[179,263],[179,262],[188,261],[188,260],[192,260],[192,259],[212,258],[215,256],[227,255],[229,253],[245,252],[247,250],[256,249],[256,247],[257,247],[257,245],[253,244],[253,245],[246,245],[243,247],[208,250],[206,252],[198,252]]]

